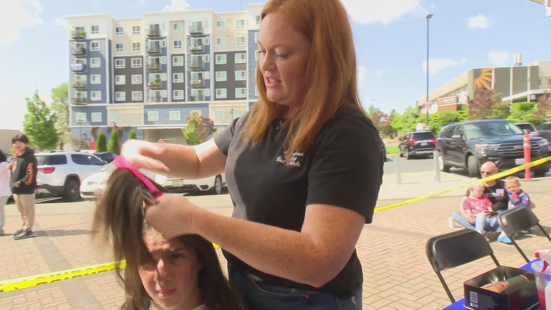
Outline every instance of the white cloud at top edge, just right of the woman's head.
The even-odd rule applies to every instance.
[[[342,0],[350,18],[360,24],[377,23],[384,25],[398,20],[402,15],[416,9],[423,9],[419,0]]]

